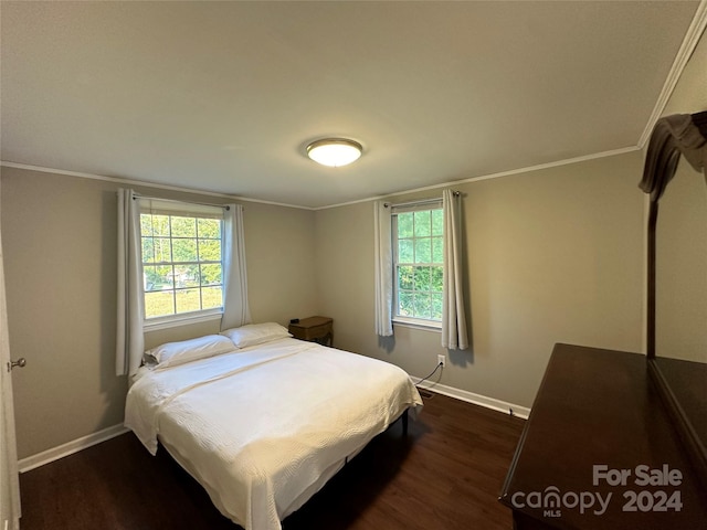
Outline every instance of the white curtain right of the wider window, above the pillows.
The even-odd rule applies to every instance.
[[[221,330],[238,328],[251,321],[247,305],[247,276],[245,272],[245,236],[243,206],[229,204],[224,212],[224,297]]]

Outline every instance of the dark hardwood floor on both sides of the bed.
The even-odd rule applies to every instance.
[[[432,394],[407,438],[373,439],[284,530],[511,528],[497,497],[524,421]],[[160,447],[124,434],[20,476],[22,530],[239,530]]]

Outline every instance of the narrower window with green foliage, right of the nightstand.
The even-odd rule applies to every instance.
[[[393,210],[393,320],[442,322],[444,215],[442,204]]]

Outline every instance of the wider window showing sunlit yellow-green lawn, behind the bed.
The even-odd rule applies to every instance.
[[[146,325],[223,311],[223,215],[190,204],[140,208]],[[155,202],[158,202],[156,205]],[[210,210],[210,211],[209,211]]]

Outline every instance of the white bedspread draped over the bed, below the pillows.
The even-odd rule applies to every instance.
[[[146,370],[127,427],[157,438],[246,530],[279,530],[370,439],[422,400],[387,362],[282,339],[163,370]]]

